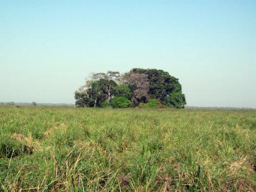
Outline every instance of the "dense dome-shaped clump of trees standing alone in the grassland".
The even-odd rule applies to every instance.
[[[179,79],[157,69],[132,68],[125,74],[92,74],[75,93],[77,107],[184,108]]]

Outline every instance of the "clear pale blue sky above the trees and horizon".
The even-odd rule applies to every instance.
[[[0,102],[74,103],[92,72],[137,67],[188,106],[256,108],[256,1],[0,3]]]

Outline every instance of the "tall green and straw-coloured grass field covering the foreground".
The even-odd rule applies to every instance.
[[[0,191],[255,191],[256,111],[0,107]]]

